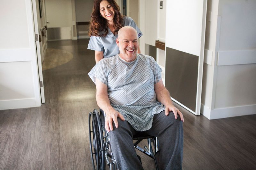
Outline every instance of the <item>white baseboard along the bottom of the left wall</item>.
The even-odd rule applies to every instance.
[[[37,104],[36,98],[0,101],[0,110],[40,107],[40,106],[41,106],[41,103]]]

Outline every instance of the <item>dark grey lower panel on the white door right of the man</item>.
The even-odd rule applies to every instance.
[[[196,111],[198,56],[166,47],[165,87],[171,97]]]

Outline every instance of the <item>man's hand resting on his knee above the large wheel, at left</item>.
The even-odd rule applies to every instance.
[[[105,129],[107,129],[108,132],[110,130],[113,130],[113,124],[114,121],[116,128],[118,128],[118,122],[117,117],[119,117],[122,121],[124,121],[124,116],[117,112],[114,108],[110,108],[107,111],[105,111],[106,117],[105,117]]]

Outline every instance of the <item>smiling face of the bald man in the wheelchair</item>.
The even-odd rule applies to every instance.
[[[118,33],[119,38],[116,39],[116,43],[120,51],[120,57],[127,62],[134,61],[136,59],[139,45],[137,32],[132,29],[126,29],[120,34]]]

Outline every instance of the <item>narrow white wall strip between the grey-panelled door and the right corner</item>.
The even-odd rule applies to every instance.
[[[215,68],[217,67],[218,58],[218,49],[216,49],[218,47],[216,47],[216,44],[219,44],[217,43],[219,37],[217,35],[219,33],[217,24],[220,18],[218,17],[218,6],[219,1],[208,0],[207,2],[201,103],[209,109],[214,109],[216,92],[217,69]]]

